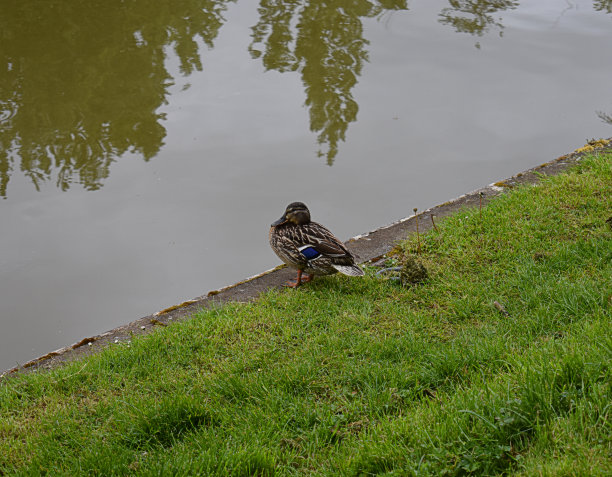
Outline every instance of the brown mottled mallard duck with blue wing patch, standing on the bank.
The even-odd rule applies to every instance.
[[[310,221],[310,211],[302,202],[287,206],[283,216],[270,226],[270,246],[278,257],[297,269],[297,279],[286,286],[296,288],[316,275],[340,272],[353,277],[363,275],[355,256],[321,224]],[[303,273],[306,277],[302,277]]]

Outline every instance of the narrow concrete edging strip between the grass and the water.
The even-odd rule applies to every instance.
[[[586,153],[594,150],[605,151],[610,149],[612,149],[610,139],[592,140],[572,153],[565,154],[532,169],[519,172],[512,177],[489,184],[486,187],[469,192],[425,211],[420,211],[418,214],[405,217],[393,224],[353,237],[349,240],[348,246],[357,254],[360,261],[375,261],[388,253],[399,240],[415,233],[418,219],[420,219],[421,231],[427,231],[432,228],[434,218],[440,220],[451,216],[464,207],[481,207],[486,205],[491,198],[514,187],[523,184],[533,184],[538,182],[543,176],[552,176],[563,172],[578,163]],[[253,300],[271,288],[280,288],[291,277],[293,277],[292,271],[283,266],[276,267],[222,289],[211,290],[205,295],[170,306],[105,333],[84,337],[76,343],[51,351],[43,356],[6,370],[0,373],[0,378],[16,372],[31,372],[41,368],[51,369],[62,365],[66,361],[96,353],[109,345],[127,342],[133,336],[150,333],[157,326],[164,326],[185,319],[202,308],[232,301]]]

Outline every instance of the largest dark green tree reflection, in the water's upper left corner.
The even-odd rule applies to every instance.
[[[0,31],[0,196],[12,164],[36,188],[57,174],[98,189],[127,151],[155,156],[166,134],[157,112],[172,77],[201,70],[196,36],[212,47],[233,0],[61,2],[4,5]],[[9,6],[10,5],[10,6]]]

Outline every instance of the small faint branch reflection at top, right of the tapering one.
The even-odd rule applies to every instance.
[[[504,26],[492,14],[516,8],[518,0],[449,0],[450,7],[440,12],[440,23],[451,25],[457,32],[482,36],[491,26]]]

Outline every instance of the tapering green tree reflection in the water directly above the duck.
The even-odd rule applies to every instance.
[[[266,69],[301,71],[310,129],[327,146],[321,155],[330,165],[357,118],[352,89],[367,61],[368,44],[361,19],[406,8],[405,0],[260,1],[249,51],[262,58]]]

